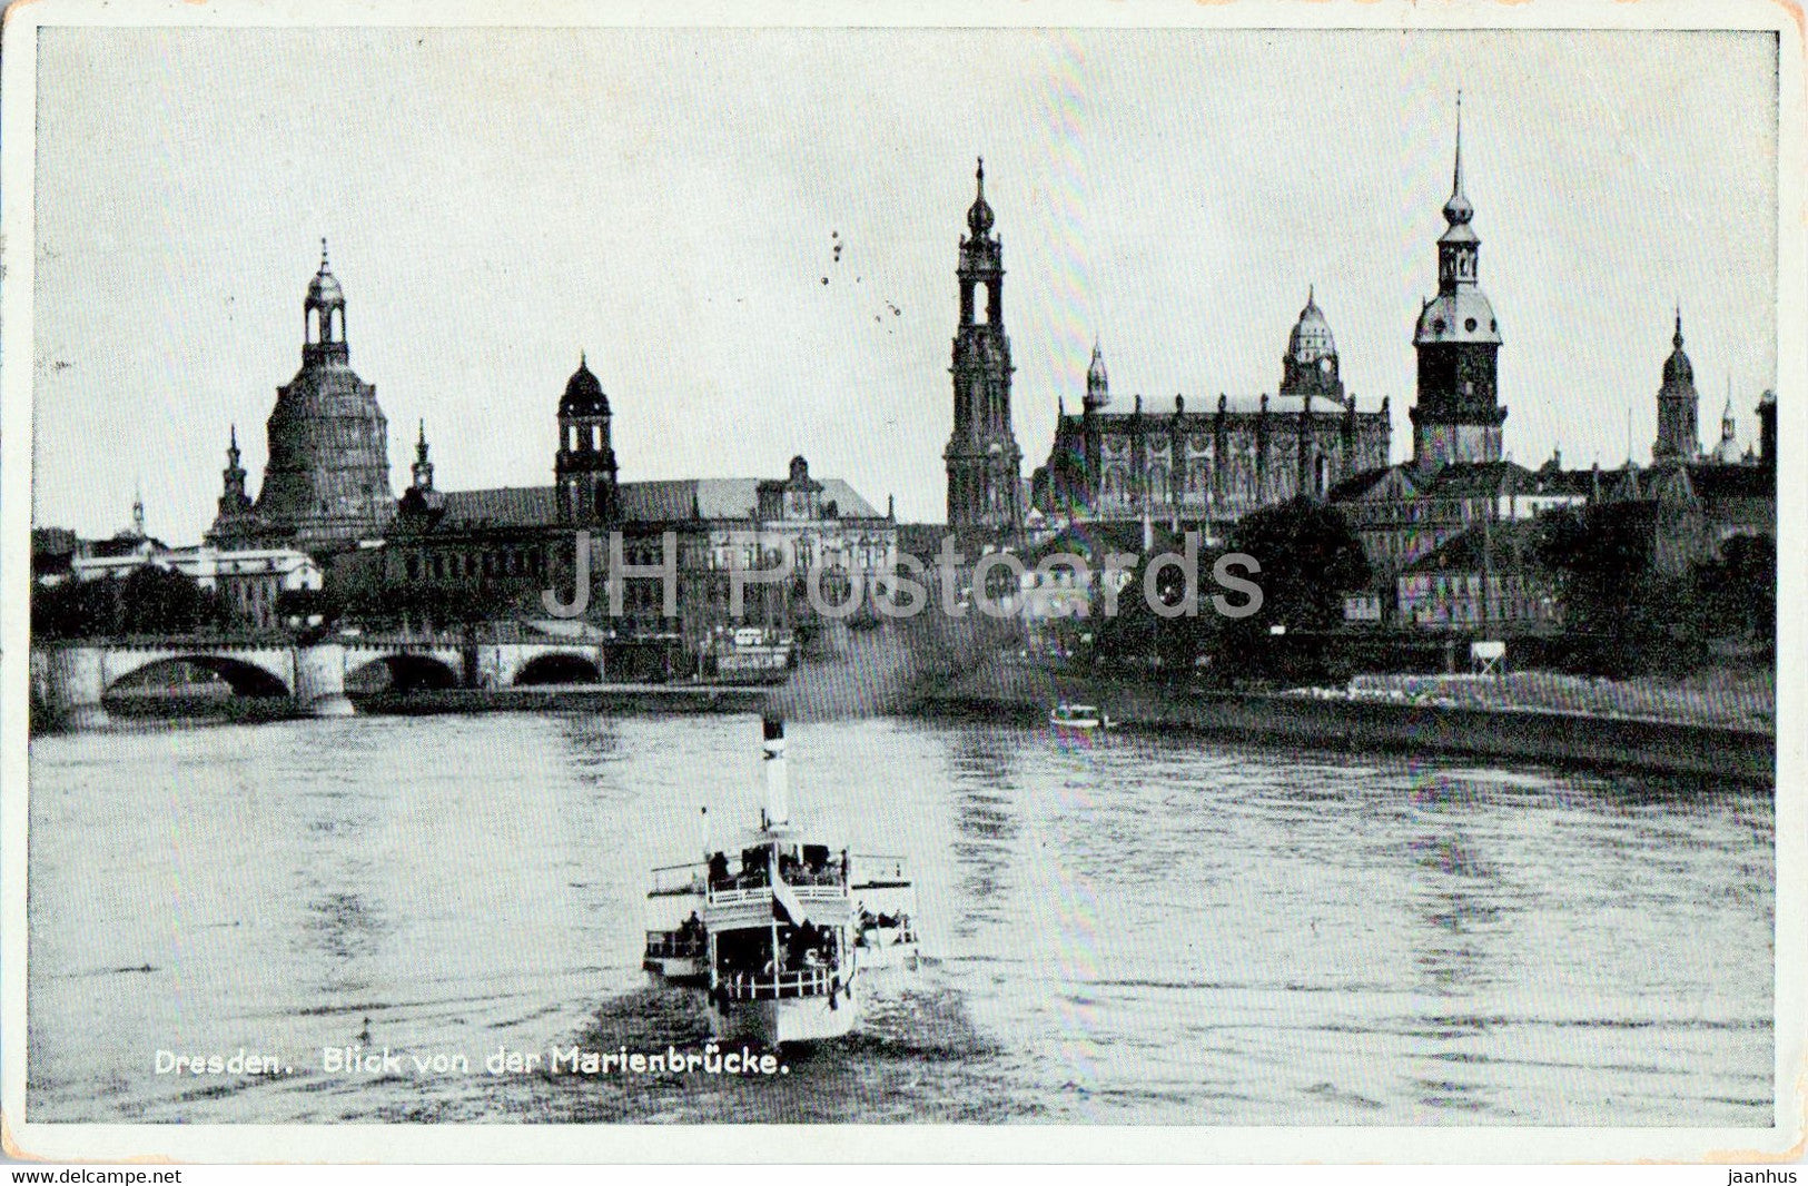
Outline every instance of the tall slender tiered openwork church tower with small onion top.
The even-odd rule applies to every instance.
[[[985,202],[985,161],[960,240],[960,325],[955,329],[955,432],[947,461],[947,526],[1014,539],[1023,526],[1022,461],[1011,430],[1011,340],[1005,336],[1003,249]],[[980,307],[978,289],[985,287]]]

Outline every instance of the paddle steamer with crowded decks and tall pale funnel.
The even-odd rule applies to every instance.
[[[705,841],[700,864],[653,870],[647,904],[662,926],[647,931],[642,964],[703,991],[716,1038],[839,1038],[871,973],[915,965],[915,886],[902,857],[835,852],[792,824],[781,720],[763,721],[761,754],[758,828],[732,848]]]

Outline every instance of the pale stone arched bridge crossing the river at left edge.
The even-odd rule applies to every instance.
[[[107,698],[146,669],[188,664],[239,696],[287,696],[297,716],[351,716],[347,691],[597,683],[600,644],[342,636],[313,644],[202,638],[76,640],[31,651],[33,694],[72,729],[107,723]],[[380,683],[378,683],[380,680]]]

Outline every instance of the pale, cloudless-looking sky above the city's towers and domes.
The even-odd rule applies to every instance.
[[[975,157],[1025,472],[1112,392],[1280,381],[1307,287],[1410,452],[1463,90],[1506,450],[1645,459],[1680,302],[1719,436],[1775,385],[1768,33],[43,29],[34,521],[197,542],[253,494],[331,244],[405,488],[551,481],[584,353],[622,481],[794,454],[944,515]],[[839,251],[837,251],[839,248]]]

